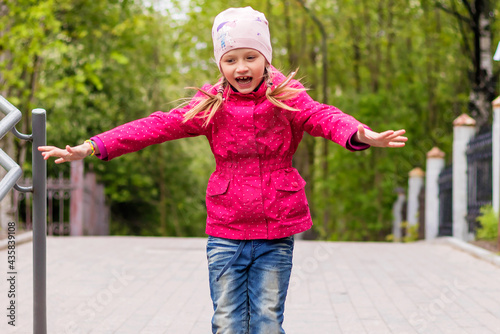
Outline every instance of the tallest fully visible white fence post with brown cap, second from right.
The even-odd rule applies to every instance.
[[[453,237],[469,241],[474,236],[467,224],[467,145],[475,134],[476,121],[462,114],[453,121]]]

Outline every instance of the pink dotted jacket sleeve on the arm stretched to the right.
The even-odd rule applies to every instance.
[[[298,81],[295,81],[292,87],[304,88]],[[300,93],[287,104],[297,109],[294,112],[293,123],[310,135],[329,139],[350,151],[360,151],[370,147],[354,140],[358,125],[370,128],[337,107],[319,103],[306,92]]]

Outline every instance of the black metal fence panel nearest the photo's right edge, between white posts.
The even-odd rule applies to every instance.
[[[469,232],[475,233],[480,208],[491,204],[493,193],[493,133],[480,134],[467,147],[467,222]]]

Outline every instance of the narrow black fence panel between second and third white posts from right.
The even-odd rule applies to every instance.
[[[453,166],[439,174],[439,231],[440,237],[453,235]]]

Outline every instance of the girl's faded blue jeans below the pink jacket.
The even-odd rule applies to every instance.
[[[208,237],[214,334],[284,334],[294,238]]]

